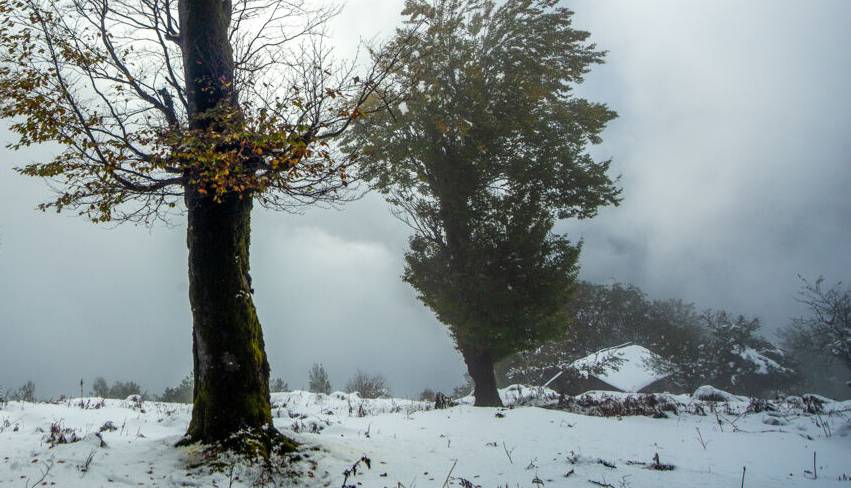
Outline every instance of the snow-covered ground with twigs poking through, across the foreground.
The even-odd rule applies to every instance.
[[[533,403],[555,402],[544,393],[549,400]],[[502,394],[510,403],[540,390],[512,387]],[[630,395],[592,392],[577,402],[638,398]],[[744,469],[747,488],[851,487],[851,402],[825,399],[819,413],[807,413],[799,397],[790,397],[775,402],[774,411],[746,413],[753,404],[739,397],[662,397],[679,413],[596,417],[465,404],[431,410],[425,402],[356,394],[276,393],[275,425],[302,443],[309,458],[296,463],[299,477],[264,486],[344,486],[344,471],[366,456],[371,469],[361,463],[345,486],[740,487]],[[211,473],[197,466],[197,448],[173,447],[189,405],[80,403],[0,404],[0,486],[257,484],[256,468],[225,465]],[[59,443],[63,437],[66,443]],[[672,470],[652,469],[657,453],[658,463]]]

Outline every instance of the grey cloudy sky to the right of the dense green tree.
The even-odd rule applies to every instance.
[[[582,93],[621,114],[595,153],[614,157],[624,204],[565,226],[586,238],[586,278],[771,328],[799,313],[796,274],[849,278],[851,5],[571,6],[610,51]]]

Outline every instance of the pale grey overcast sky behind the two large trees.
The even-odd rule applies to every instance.
[[[614,159],[623,204],[559,224],[584,239],[584,279],[759,315],[769,331],[801,312],[796,274],[851,280],[851,3],[569,6],[609,51],[580,93],[620,113],[593,153]],[[334,39],[389,33],[400,10],[349,0]],[[160,392],[192,364],[185,227],[34,211],[47,188],[11,166],[50,153],[0,156],[0,386],[31,379],[39,396],[70,394],[102,375]],[[462,381],[444,327],[399,279],[407,233],[374,196],[343,211],[255,213],[273,376],[303,387],[323,362],[338,388],[356,368],[397,394]]]

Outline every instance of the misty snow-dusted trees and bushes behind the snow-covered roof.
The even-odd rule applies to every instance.
[[[542,384],[576,359],[632,342],[661,356],[654,366],[670,375],[666,386],[680,392],[711,384],[743,395],[847,398],[851,370],[841,345],[851,339],[841,336],[839,322],[844,317],[848,324],[851,316],[848,297],[841,284],[825,290],[822,280],[804,281],[799,298],[809,313],[790,319],[775,342],[758,317],[652,299],[634,285],[583,282],[561,337],[502,362],[498,378],[502,384]]]

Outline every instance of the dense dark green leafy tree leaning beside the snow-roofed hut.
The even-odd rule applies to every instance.
[[[619,199],[585,152],[615,114],[572,92],[603,53],[556,3],[407,1],[426,29],[395,78],[405,101],[348,139],[414,230],[404,279],[449,326],[476,405],[501,404],[496,361],[567,321],[579,246],[556,219]]]

